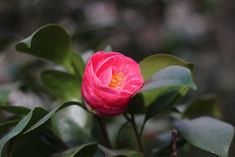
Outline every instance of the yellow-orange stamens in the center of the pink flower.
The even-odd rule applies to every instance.
[[[123,76],[122,72],[114,73],[108,86],[111,88],[121,87],[124,80],[126,80],[126,78]]]

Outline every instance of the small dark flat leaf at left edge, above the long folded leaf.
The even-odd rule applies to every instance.
[[[16,115],[26,115],[30,112],[29,108],[23,106],[0,106],[0,111],[6,111]]]

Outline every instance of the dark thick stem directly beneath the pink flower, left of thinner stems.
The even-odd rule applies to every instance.
[[[100,132],[101,132],[102,137],[103,137],[104,145],[107,148],[111,148],[111,144],[110,144],[110,141],[109,141],[109,137],[108,137],[108,133],[107,133],[107,129],[106,129],[105,123],[103,122],[101,117],[99,117],[99,116],[95,116],[95,117],[96,117],[97,122],[98,122],[99,127],[100,127]]]

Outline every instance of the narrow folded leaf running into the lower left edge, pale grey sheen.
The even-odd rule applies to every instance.
[[[38,119],[42,118],[45,114],[46,111],[42,108],[35,108],[34,110],[30,111],[8,134],[6,134],[0,140],[0,156],[2,155],[4,145],[9,140],[21,134],[27,128],[31,127]]]

